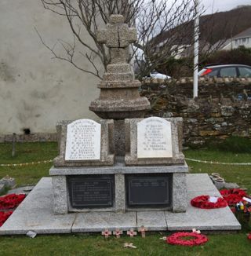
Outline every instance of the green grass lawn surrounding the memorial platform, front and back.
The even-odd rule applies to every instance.
[[[187,150],[191,159],[213,160],[227,163],[250,163],[251,155],[219,148]],[[11,157],[11,144],[0,144],[0,163],[27,163],[53,159],[57,155],[56,143],[16,144],[16,156]],[[251,192],[251,166],[222,166],[187,161],[191,173],[220,173],[228,182],[248,188]],[[0,166],[0,177],[9,174],[18,186],[35,184],[41,177],[49,176],[51,163],[31,166]],[[209,235],[209,242],[199,247],[179,247],[159,240],[167,232],[147,233],[145,239],[122,236],[104,240],[100,234],[49,235],[30,239],[26,236],[0,236],[0,255],[248,255],[251,241],[246,239],[249,228],[236,234]],[[123,243],[133,243],[137,248],[123,248]]]

